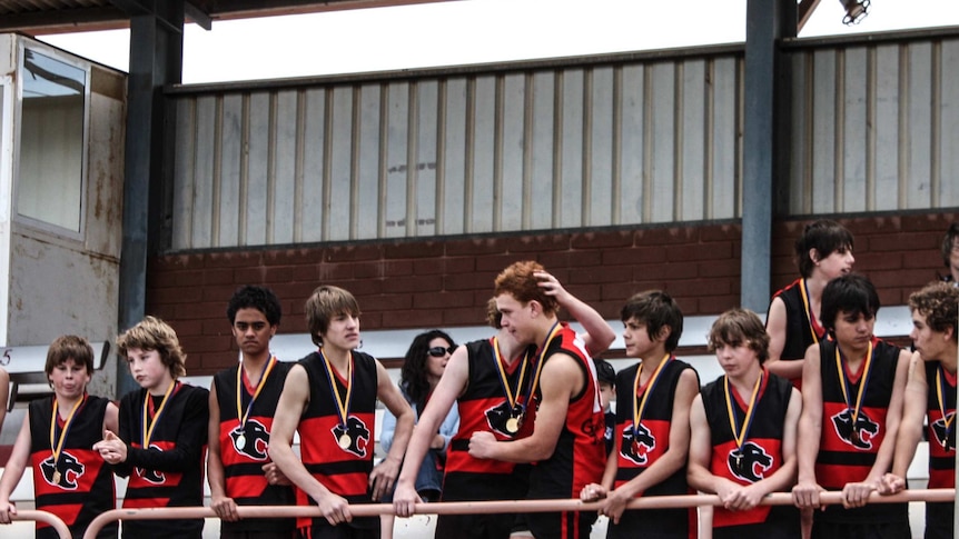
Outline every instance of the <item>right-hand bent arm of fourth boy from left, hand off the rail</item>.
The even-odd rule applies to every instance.
[[[409,435],[413,432],[413,422],[415,421],[413,409],[409,408],[409,403],[399,392],[399,388],[393,383],[386,368],[378,360],[376,361],[376,397],[396,417],[396,430],[393,435],[393,446],[386,453],[386,458],[369,472],[373,501],[379,501],[383,495],[393,491],[393,481],[399,475],[403,453],[406,451],[406,445],[409,443]]]

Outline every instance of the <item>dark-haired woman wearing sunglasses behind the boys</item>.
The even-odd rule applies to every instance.
[[[429,400],[431,393],[439,383],[439,378],[443,376],[443,370],[446,368],[446,362],[449,361],[449,356],[456,350],[456,345],[453,338],[446,332],[438,329],[419,333],[413,339],[409,345],[409,350],[406,351],[406,357],[403,362],[403,368],[399,371],[399,389],[406,401],[413,407],[413,412],[419,418],[419,412],[426,407],[426,401]],[[379,443],[385,451],[389,450],[393,442],[393,430],[396,427],[396,418],[389,411],[383,416],[383,432],[379,437]],[[433,435],[433,440],[429,443],[429,450],[423,458],[423,463],[419,467],[419,473],[416,477],[416,492],[425,501],[437,501],[439,499],[439,488],[443,486],[443,465],[446,461],[446,447],[449,445],[449,438],[459,429],[459,413],[457,408],[453,407],[446,415],[446,419],[439,426],[436,433]],[[384,502],[393,501],[393,493],[383,498]],[[393,537],[393,516],[384,515],[382,517],[382,537],[389,539]]]

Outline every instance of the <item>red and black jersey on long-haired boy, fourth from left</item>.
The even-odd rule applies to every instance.
[[[376,439],[376,360],[373,356],[354,350],[350,361],[352,382],[336,369],[330,369],[340,399],[345,399],[352,383],[349,410],[344,426],[323,357],[313,352],[299,360],[309,380],[309,403],[297,427],[299,450],[303,466],[330,492],[342,496],[349,503],[369,503],[372,499],[367,480],[373,471]],[[339,445],[342,438],[345,440],[344,436],[349,437],[347,447]],[[299,506],[316,505],[300,489],[296,489],[296,502]],[[378,519],[354,519],[353,525],[373,527],[378,522]],[[297,520],[300,528],[317,523],[328,525],[324,518]]]

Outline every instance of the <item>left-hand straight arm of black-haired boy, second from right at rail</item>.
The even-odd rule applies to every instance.
[[[797,441],[798,483],[792,499],[800,508],[819,507],[819,492],[824,490],[815,480],[815,457],[822,436],[822,377],[819,345],[809,347],[802,368],[802,412]]]

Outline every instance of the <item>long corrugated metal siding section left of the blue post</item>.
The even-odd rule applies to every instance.
[[[729,219],[742,58],[177,93],[172,249]]]

